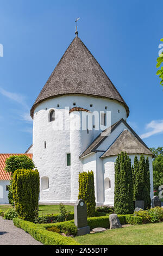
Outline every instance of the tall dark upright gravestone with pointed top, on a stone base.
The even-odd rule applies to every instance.
[[[78,228],[77,235],[90,233],[90,227],[87,225],[87,209],[83,199],[77,200],[74,205],[74,223]]]

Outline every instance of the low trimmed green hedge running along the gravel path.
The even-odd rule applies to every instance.
[[[34,224],[29,221],[23,221],[20,218],[14,218],[13,222],[17,228],[22,228],[43,245],[80,245],[71,237],[47,231],[42,224]]]

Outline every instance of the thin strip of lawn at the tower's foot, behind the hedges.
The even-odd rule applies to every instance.
[[[65,205],[66,210],[73,212],[74,206],[72,205]],[[10,205],[0,205],[0,210],[6,211],[9,208],[12,208]],[[59,214],[59,205],[39,205],[39,214]]]

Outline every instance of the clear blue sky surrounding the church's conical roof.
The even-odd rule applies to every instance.
[[[32,144],[29,112],[79,37],[127,102],[128,123],[148,147],[163,146],[163,88],[156,76],[163,3],[151,0],[0,0],[0,153]]]

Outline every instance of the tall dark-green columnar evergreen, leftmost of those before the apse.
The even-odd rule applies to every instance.
[[[121,152],[115,162],[115,197],[116,214],[133,214],[133,170],[127,153]]]

